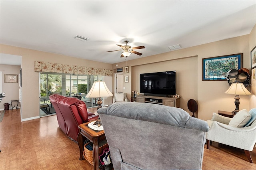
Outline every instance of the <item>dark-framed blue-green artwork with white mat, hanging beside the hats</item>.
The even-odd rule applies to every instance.
[[[243,53],[202,59],[202,81],[226,80],[230,69],[242,68]]]

